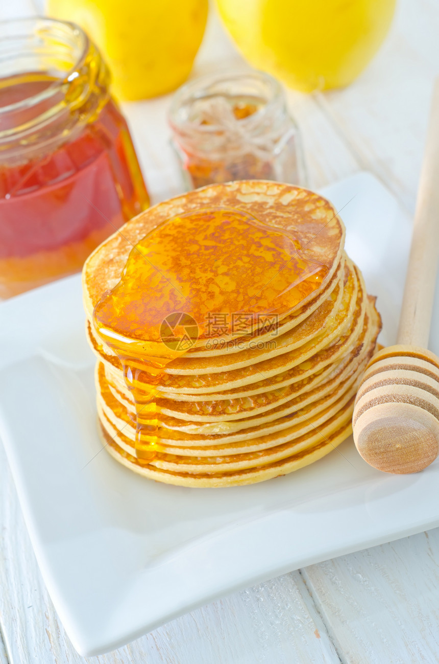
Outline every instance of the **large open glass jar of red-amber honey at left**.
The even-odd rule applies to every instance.
[[[99,51],[72,23],[0,23],[0,297],[82,268],[149,198]]]

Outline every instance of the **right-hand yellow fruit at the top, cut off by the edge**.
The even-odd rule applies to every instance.
[[[395,0],[217,0],[253,66],[296,90],[351,83],[378,50]]]

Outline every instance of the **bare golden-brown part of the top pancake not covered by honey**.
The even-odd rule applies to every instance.
[[[88,318],[92,318],[93,309],[103,293],[113,289],[121,279],[135,244],[170,218],[212,207],[242,210],[263,224],[288,230],[302,249],[306,248],[307,258],[328,268],[320,288],[324,290],[332,280],[342,256],[344,226],[326,199],[306,189],[271,181],[209,185],[145,210],[89,256],[83,270],[84,305]],[[298,307],[315,297],[314,291]]]

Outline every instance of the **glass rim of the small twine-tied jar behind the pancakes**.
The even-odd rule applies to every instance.
[[[188,125],[191,125],[191,127],[196,127],[200,133],[206,135],[218,131],[217,125],[200,125],[190,122],[187,118],[179,117],[180,109],[185,104],[188,105],[191,102],[193,103],[200,100],[202,98],[202,92],[208,90],[210,86],[228,82],[239,82],[240,80],[262,82],[267,86],[268,90],[267,102],[255,113],[247,116],[247,118],[239,120],[243,125],[259,124],[259,122],[265,119],[267,115],[271,114],[272,110],[279,105],[279,102],[284,101],[281,83],[274,78],[274,76],[271,76],[271,74],[267,74],[267,72],[262,72],[261,70],[241,70],[231,74],[227,70],[219,70],[210,74],[197,76],[197,78],[182,85],[174,93],[170,110],[168,112],[168,122],[172,129],[178,131],[185,126],[187,127]]]

